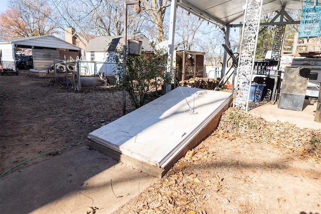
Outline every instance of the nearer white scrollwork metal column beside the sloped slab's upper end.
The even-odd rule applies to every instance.
[[[239,57],[236,94],[233,106],[246,111],[250,96],[262,2],[263,0],[247,0],[244,14],[241,54]]]

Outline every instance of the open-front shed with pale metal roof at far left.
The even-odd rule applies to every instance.
[[[4,67],[8,64],[15,65],[16,51],[30,49],[33,58],[34,69],[48,69],[54,60],[68,60],[81,57],[81,50],[62,39],[51,35],[26,37],[0,41],[1,62]]]

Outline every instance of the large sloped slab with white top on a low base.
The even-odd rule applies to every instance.
[[[89,133],[92,147],[162,177],[217,126],[229,92],[179,87]]]

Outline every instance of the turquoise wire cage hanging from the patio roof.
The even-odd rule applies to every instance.
[[[298,38],[319,37],[321,25],[321,7],[314,0],[313,7],[309,7],[311,0],[305,0],[302,9]]]

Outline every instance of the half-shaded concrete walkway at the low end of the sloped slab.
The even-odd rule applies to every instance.
[[[156,179],[86,146],[0,178],[0,213],[111,213]]]

